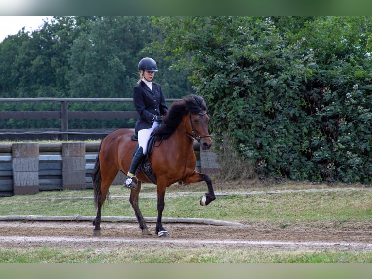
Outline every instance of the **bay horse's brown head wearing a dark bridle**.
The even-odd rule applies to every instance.
[[[191,133],[198,140],[203,150],[208,150],[212,146],[212,139],[208,132],[209,116],[205,110],[198,113],[190,113]]]

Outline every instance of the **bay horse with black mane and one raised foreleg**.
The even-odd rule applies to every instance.
[[[188,95],[183,100],[175,101],[169,108],[163,123],[154,131],[155,144],[149,161],[156,176],[157,221],[156,234],[169,237],[162,225],[164,196],[166,188],[176,182],[186,184],[205,181],[208,192],[203,195],[200,205],[208,205],[216,199],[211,177],[195,170],[196,157],[193,149],[194,140],[198,140],[203,150],[212,146],[208,132],[209,116],[202,97]],[[127,174],[137,141],[132,140],[133,129],[118,129],[106,136],[100,144],[99,154],[92,172],[94,200],[97,216],[93,221],[94,234],[99,234],[101,227],[101,210],[109,187],[118,171]],[[138,206],[142,182],[152,183],[140,169],[137,174],[137,189],[130,189],[129,202],[142,230],[142,235],[151,235]]]

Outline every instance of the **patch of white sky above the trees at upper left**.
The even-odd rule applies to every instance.
[[[0,43],[8,36],[15,35],[25,27],[34,31],[43,25],[43,19],[51,16],[0,16]]]

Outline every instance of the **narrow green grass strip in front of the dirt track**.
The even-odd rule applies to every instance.
[[[372,263],[372,252],[250,249],[0,249],[1,263]]]

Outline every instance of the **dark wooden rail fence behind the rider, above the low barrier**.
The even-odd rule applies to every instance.
[[[173,102],[180,99],[166,99]],[[101,139],[115,129],[69,129],[71,119],[131,119],[137,118],[136,111],[69,111],[69,102],[133,102],[132,98],[0,98],[1,103],[58,102],[57,111],[0,111],[0,140],[86,140]],[[133,106],[134,108],[134,106]],[[59,127],[42,129],[4,129],[1,122],[21,119],[59,119]]]

